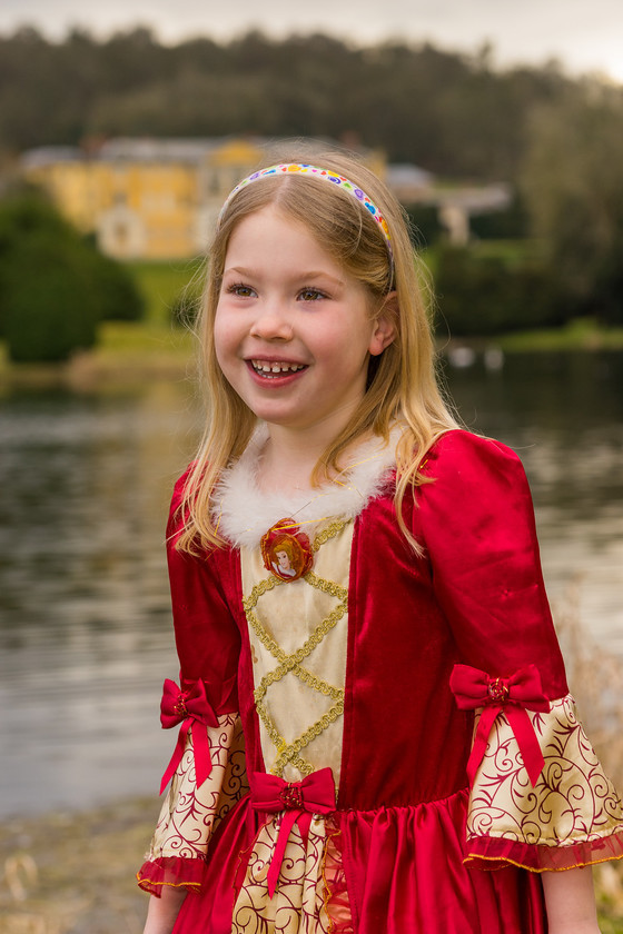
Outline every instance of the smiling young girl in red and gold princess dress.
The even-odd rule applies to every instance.
[[[245,179],[200,337],[146,934],[594,934],[621,803],[568,696],[525,475],[444,405],[382,182],[336,153]]]

